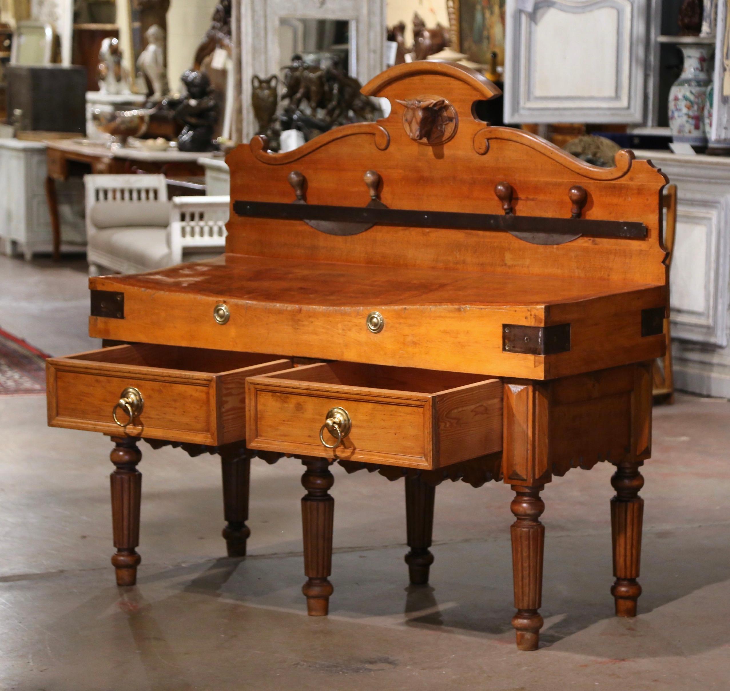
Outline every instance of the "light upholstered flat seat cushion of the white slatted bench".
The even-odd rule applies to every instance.
[[[145,269],[161,269],[170,263],[166,226],[107,228],[89,236],[88,247]]]

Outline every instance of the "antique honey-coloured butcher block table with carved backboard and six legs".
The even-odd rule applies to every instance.
[[[301,459],[312,615],[333,592],[332,463],[404,479],[414,584],[434,560],[435,487],[502,481],[512,625],[534,650],[541,493],[609,461],[611,592],[633,617],[666,179],[628,151],[597,168],[476,120],[475,101],[499,90],[453,63],[396,66],[363,93],[390,115],[288,153],[256,137],[228,155],[226,254],[92,278],[90,334],[122,344],[47,360],[49,424],[114,444],[118,584],[140,561],[140,439],[221,455],[230,555],[250,533],[250,458]]]

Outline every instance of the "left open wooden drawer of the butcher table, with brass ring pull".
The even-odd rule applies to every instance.
[[[274,355],[151,344],[49,358],[48,424],[211,446],[240,441],[246,377],[291,366]]]

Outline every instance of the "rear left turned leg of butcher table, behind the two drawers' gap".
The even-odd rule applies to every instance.
[[[250,486],[251,460],[240,447],[220,450],[220,468],[223,471],[223,517],[229,557],[245,557],[246,541],[251,529],[248,520],[248,494]]]

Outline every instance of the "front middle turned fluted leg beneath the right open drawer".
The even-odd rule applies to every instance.
[[[334,485],[326,458],[304,458],[307,467],[301,485],[307,494],[301,498],[301,525],[304,532],[304,574],[307,582],[301,592],[307,597],[310,617],[325,617],[329,596],[334,588],[328,580],[332,573],[332,527],[334,498],[328,490]]]

